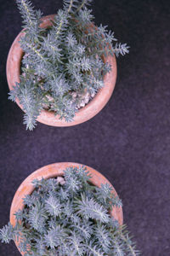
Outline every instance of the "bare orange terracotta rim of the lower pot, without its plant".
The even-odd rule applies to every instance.
[[[42,168],[38,169],[36,172],[32,172],[30,176],[26,177],[23,183],[20,184],[19,189],[17,189],[14,199],[12,201],[11,209],[10,209],[10,223],[12,225],[15,224],[15,218],[14,218],[14,212],[17,212],[19,210],[22,210],[24,208],[24,203],[23,203],[23,198],[25,195],[30,195],[31,192],[33,191],[34,187],[32,185],[32,181],[34,179],[42,179],[45,178],[50,178],[50,177],[57,177],[57,176],[62,176],[64,174],[63,170],[65,170],[66,167],[69,166],[75,166],[78,167],[80,164],[77,163],[71,163],[71,162],[64,162],[64,163],[55,163],[52,165],[48,166],[43,166]],[[94,170],[93,168],[86,166],[87,171],[90,172],[92,175],[92,178],[90,181],[95,185],[100,187],[101,183],[111,183],[99,172]],[[117,195],[116,190],[113,188],[114,195]],[[122,207],[113,207],[111,211],[111,216],[113,216],[119,224],[122,225],[123,223],[123,216],[122,216]],[[16,247],[18,247],[19,242],[15,241]],[[19,249],[19,247],[18,247]],[[20,249],[19,249],[20,251]],[[24,255],[23,253],[21,253]]]

